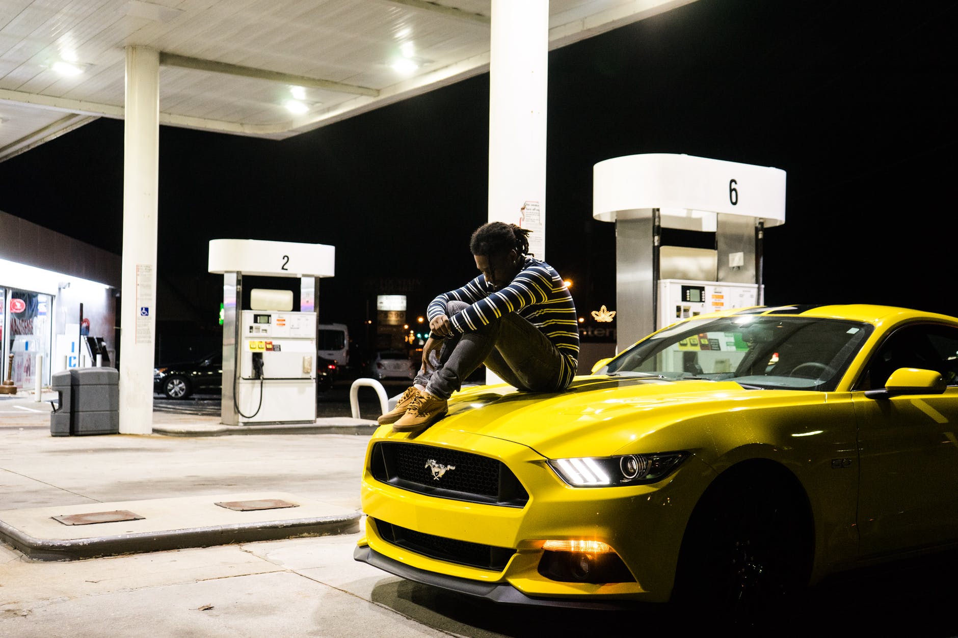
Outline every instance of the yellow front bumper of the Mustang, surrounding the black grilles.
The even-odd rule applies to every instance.
[[[389,439],[398,440],[395,435]],[[356,559],[412,581],[507,604],[549,600],[548,604],[563,606],[614,606],[669,600],[682,533],[700,494],[694,486],[710,480],[711,469],[694,457],[659,484],[576,489],[523,445],[451,430],[442,433],[442,441],[423,439],[416,443],[434,445],[437,454],[457,449],[502,462],[529,492],[529,501],[521,508],[503,507],[403,490],[376,480],[367,454],[361,488],[366,535],[359,541]],[[375,436],[370,450],[381,440]],[[377,520],[423,535],[511,548],[513,554],[501,570],[431,558],[390,542],[376,529]],[[622,558],[634,581],[551,580],[538,569],[547,539],[604,541]]]

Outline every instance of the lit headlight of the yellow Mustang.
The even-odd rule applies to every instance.
[[[574,488],[643,485],[660,481],[685,460],[688,452],[553,459],[549,467]]]

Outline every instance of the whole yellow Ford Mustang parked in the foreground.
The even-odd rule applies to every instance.
[[[378,428],[354,558],[503,604],[767,608],[958,541],[958,319],[747,308]]]

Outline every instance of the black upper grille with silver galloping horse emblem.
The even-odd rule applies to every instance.
[[[438,498],[521,508],[529,494],[505,464],[487,456],[433,445],[378,443],[377,481]]]

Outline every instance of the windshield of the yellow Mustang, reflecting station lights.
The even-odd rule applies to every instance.
[[[838,384],[871,332],[870,324],[839,319],[698,319],[652,335],[597,372],[827,391]]]

